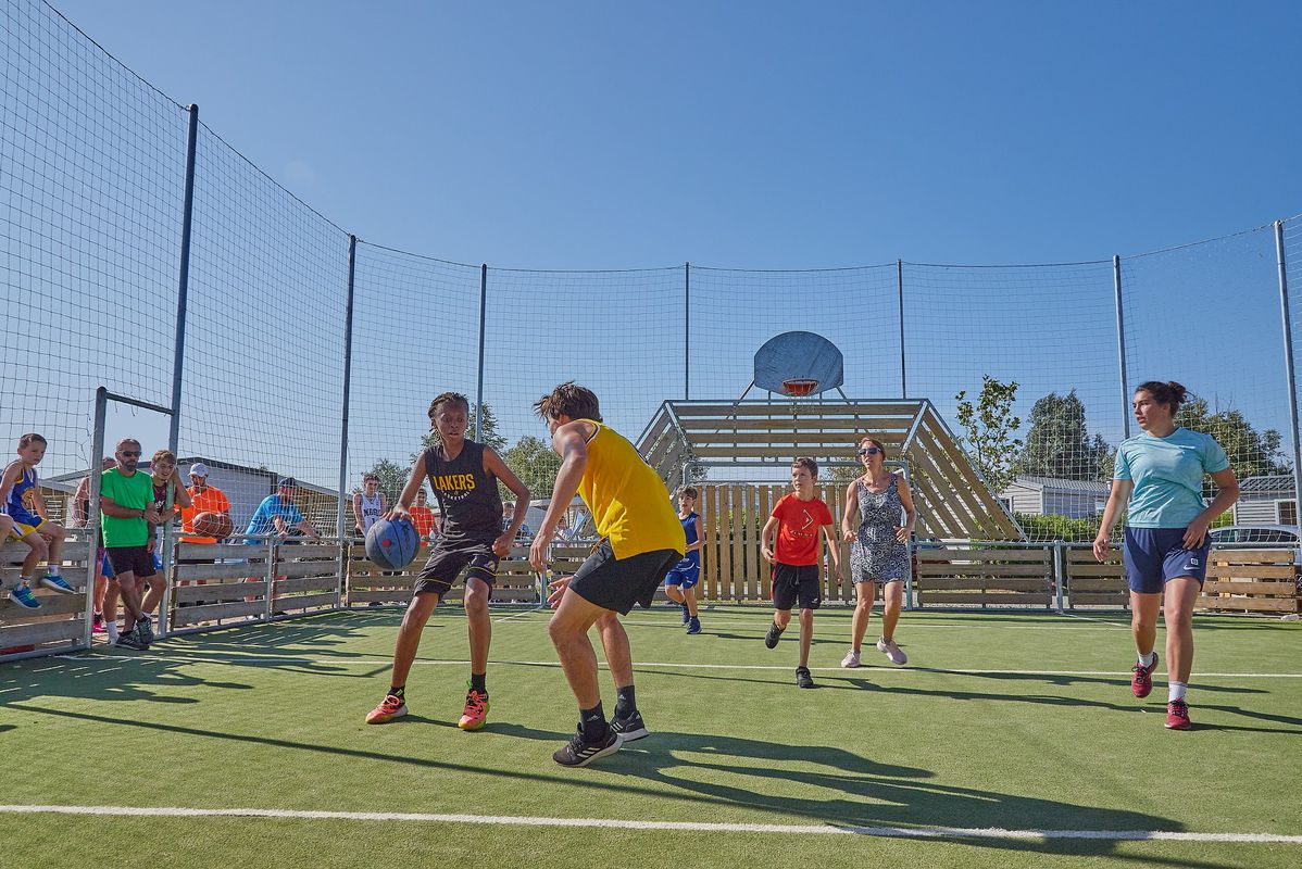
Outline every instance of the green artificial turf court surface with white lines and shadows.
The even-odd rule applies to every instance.
[[[825,609],[819,688],[801,691],[794,631],[766,649],[764,609],[702,610],[697,637],[676,610],[634,610],[652,735],[562,769],[551,752],[575,710],[544,611],[495,610],[483,731],[454,726],[467,673],[456,608],[424,632],[411,715],[362,723],[400,617],[0,666],[0,862],[1302,864],[1295,622],[1197,617],[1195,729],[1169,732],[1164,683],[1130,696],[1124,614],[906,613],[909,666],[866,644],[867,666],[841,670],[850,611]]]

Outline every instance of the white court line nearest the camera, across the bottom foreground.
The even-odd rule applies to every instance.
[[[704,821],[630,821],[620,818],[553,818],[510,814],[436,814],[426,812],[312,812],[294,809],[190,809],[125,805],[0,805],[13,814],[94,814],[145,817],[292,818],[306,821],[397,821],[404,823],[479,823],[523,827],[592,827],[602,830],[686,830],[691,833],[776,833],[797,835],[863,835],[892,839],[1094,839],[1103,842],[1233,842],[1302,844],[1302,835],[1275,833],[1176,833],[1172,830],[1005,830],[1001,827],[833,826],[829,823],[711,823]]]

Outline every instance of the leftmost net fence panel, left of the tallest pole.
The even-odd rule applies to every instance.
[[[89,467],[98,386],[171,403],[185,131],[180,105],[44,3],[7,5],[0,448],[44,434],[44,477]]]

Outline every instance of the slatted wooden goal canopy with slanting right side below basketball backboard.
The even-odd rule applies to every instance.
[[[638,450],[673,488],[693,466],[784,470],[807,455],[820,467],[857,467],[859,437],[887,445],[906,468],[918,507],[918,535],[941,540],[1023,540],[979,471],[927,399],[772,398],[667,401]]]

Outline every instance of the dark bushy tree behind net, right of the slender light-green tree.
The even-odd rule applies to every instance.
[[[1031,408],[1026,446],[1013,462],[1014,474],[1061,480],[1099,480],[1112,453],[1099,434],[1090,437],[1085,405],[1073,389],[1066,395],[1049,393]],[[1111,468],[1109,468],[1111,471]]]

